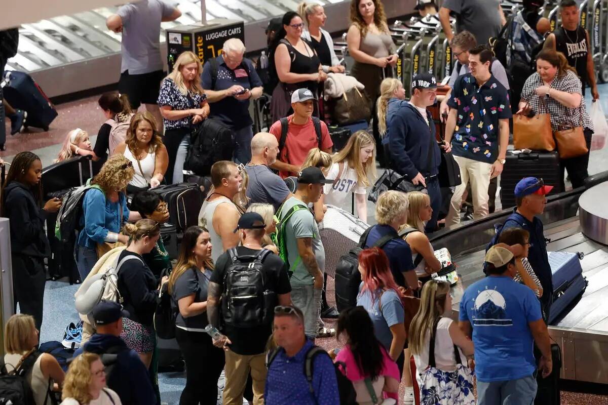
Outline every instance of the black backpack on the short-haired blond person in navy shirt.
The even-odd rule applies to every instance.
[[[365,230],[359,239],[359,245],[352,248],[347,254],[343,254],[336,265],[336,306],[342,312],[347,308],[357,306],[357,295],[359,294],[359,284],[361,284],[361,273],[359,273],[359,253],[365,248],[367,236],[370,234],[370,226]],[[399,235],[391,233],[376,240],[371,247],[382,248],[389,240],[398,238]]]

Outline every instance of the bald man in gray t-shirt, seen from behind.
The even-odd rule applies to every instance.
[[[268,168],[277,161],[277,154],[277,138],[268,132],[259,132],[251,140],[251,162],[245,166],[249,175],[247,197],[250,202],[272,204],[275,213],[291,196],[283,179]]]

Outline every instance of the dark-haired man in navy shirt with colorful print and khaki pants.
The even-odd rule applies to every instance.
[[[447,105],[446,142],[460,166],[462,183],[456,187],[446,226],[460,223],[460,206],[471,182],[473,217],[488,215],[490,179],[503,169],[509,143],[511,107],[508,92],[490,71],[492,51],[485,46],[469,50],[471,73],[457,78]],[[452,139],[453,137],[453,139]]]

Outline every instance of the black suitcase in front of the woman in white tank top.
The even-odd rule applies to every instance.
[[[195,183],[179,183],[150,189],[167,203],[169,222],[178,233],[198,225],[198,213],[203,202],[201,188]]]

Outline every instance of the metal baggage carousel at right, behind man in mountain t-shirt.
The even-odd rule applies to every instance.
[[[562,350],[561,378],[608,384],[608,172],[587,179],[587,185],[548,197],[541,218],[547,251],[581,252],[587,288],[549,325],[549,335]],[[431,237],[435,250],[447,248],[460,281],[452,287],[452,318],[458,319],[462,295],[484,277],[486,243],[494,225],[511,209],[462,223]]]

